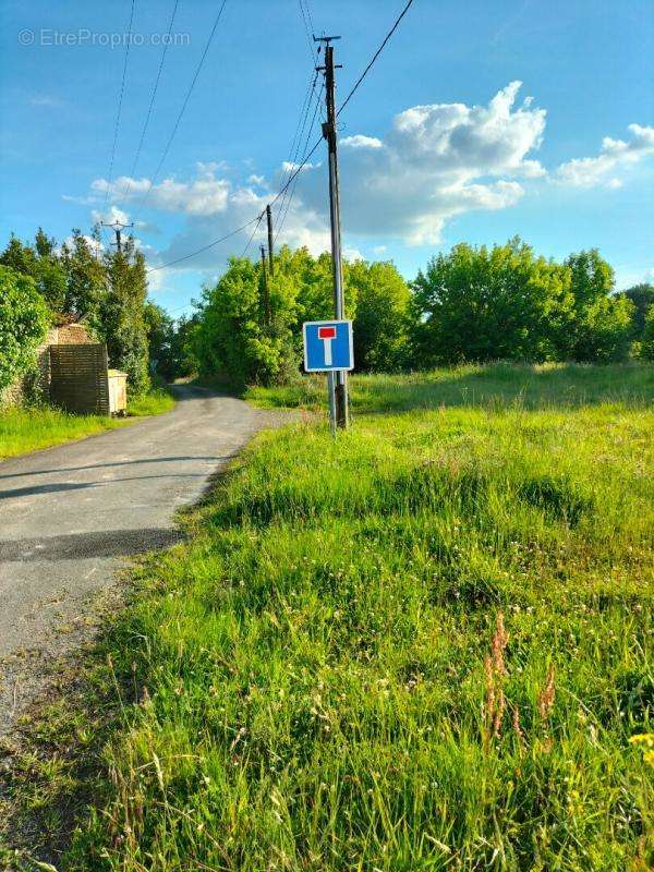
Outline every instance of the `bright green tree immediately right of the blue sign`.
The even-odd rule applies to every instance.
[[[411,292],[391,263],[356,261],[346,268],[356,299],[354,362],[358,370],[396,372],[408,364]]]

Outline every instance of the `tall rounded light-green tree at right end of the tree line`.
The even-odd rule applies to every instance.
[[[570,270],[574,303],[562,356],[598,363],[625,359],[633,305],[626,296],[613,295],[611,267],[596,249],[571,254],[565,266]]]

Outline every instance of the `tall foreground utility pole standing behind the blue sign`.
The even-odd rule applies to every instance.
[[[325,43],[325,65],[317,66],[325,73],[325,95],[327,99],[327,121],[323,124],[323,136],[327,140],[329,155],[329,218],[331,223],[331,268],[334,274],[334,315],[337,320],[346,317],[343,299],[343,265],[341,256],[340,229],[340,192],[338,183],[338,131],[336,126],[336,99],[334,71],[341,64],[334,63],[334,46],[331,43],[340,36],[315,37],[316,43]],[[336,372],[336,423],[338,427],[348,427],[348,374],[344,370]]]

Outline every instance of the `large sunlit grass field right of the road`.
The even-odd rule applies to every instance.
[[[315,408],[312,384],[250,396]],[[654,368],[352,397],[336,441],[313,416],[261,436],[141,570],[61,869],[644,872]]]

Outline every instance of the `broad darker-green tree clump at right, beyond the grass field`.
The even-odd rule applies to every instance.
[[[594,249],[559,265],[518,238],[492,250],[456,245],[413,283],[416,362],[621,360],[631,304],[613,287]]]

